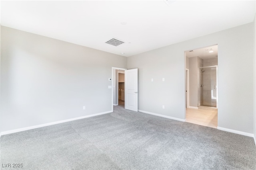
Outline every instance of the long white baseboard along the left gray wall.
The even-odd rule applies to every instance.
[[[14,129],[14,130],[10,130],[10,131],[3,131],[1,132],[1,135],[7,135],[10,133],[16,133],[16,132],[21,132],[21,131],[27,131],[30,129],[36,129],[39,127],[45,127],[45,126],[50,126],[50,125],[56,125],[59,123],[64,123],[64,122],[68,122],[68,121],[74,121],[74,120],[78,120],[78,119],[84,119],[84,118],[88,118],[88,117],[93,117],[93,116],[98,116],[98,115],[103,115],[106,113],[112,113],[113,111],[106,111],[106,112],[102,112],[102,113],[96,113],[93,115],[86,115],[86,116],[82,116],[82,117],[75,117],[72,119],[66,119],[66,120],[61,120],[61,121],[55,121],[55,122],[51,122],[51,123],[45,123],[45,124],[41,124],[41,125],[35,125],[35,126],[30,126],[30,127],[24,127],[24,128],[20,128],[20,129]]]

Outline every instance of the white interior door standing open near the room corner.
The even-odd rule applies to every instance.
[[[138,68],[125,70],[125,109],[138,111]]]

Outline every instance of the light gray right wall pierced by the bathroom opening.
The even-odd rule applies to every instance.
[[[184,51],[218,44],[218,126],[253,133],[253,35],[248,23],[128,57],[139,70],[138,109],[185,119]]]

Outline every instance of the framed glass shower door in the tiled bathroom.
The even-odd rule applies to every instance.
[[[217,72],[218,66],[200,67],[199,76],[199,106],[217,108]]]

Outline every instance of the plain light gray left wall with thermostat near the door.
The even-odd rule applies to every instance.
[[[1,131],[112,110],[126,57],[3,26],[1,42]]]

